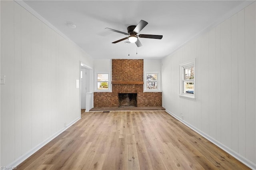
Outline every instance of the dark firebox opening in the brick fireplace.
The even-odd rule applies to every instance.
[[[137,107],[137,93],[118,93],[118,107]]]

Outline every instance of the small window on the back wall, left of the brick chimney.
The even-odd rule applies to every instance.
[[[110,74],[109,73],[95,73],[96,85],[95,91],[111,91]]]

